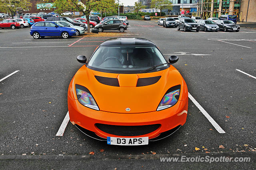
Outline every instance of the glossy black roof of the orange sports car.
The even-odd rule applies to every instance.
[[[152,41],[143,38],[112,38],[104,41],[100,46],[112,46],[112,45],[145,45],[156,46]]]

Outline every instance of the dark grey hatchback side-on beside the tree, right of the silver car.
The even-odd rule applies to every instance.
[[[103,23],[98,23],[94,28],[98,29],[99,32],[104,30],[119,30],[120,32],[124,32],[127,29],[127,25],[122,20],[106,20]]]

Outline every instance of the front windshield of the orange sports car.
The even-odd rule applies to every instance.
[[[169,67],[157,47],[148,46],[100,46],[92,55],[87,67],[100,72],[118,74],[136,74],[158,66],[149,72],[164,70]]]

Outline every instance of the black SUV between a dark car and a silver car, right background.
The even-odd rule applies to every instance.
[[[195,20],[191,18],[181,18],[180,21],[178,21],[177,29],[184,29],[184,31],[188,30],[196,30],[196,32],[199,31],[199,25],[196,23]]]

